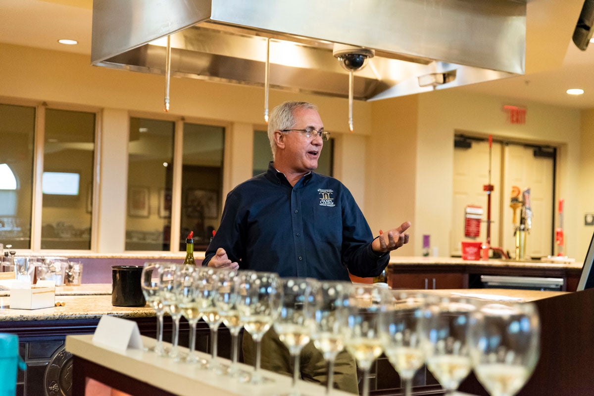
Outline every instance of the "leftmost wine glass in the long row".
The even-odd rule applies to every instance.
[[[141,273],[140,286],[143,289],[144,299],[150,304],[157,314],[157,342],[154,347],[147,349],[159,356],[165,355],[165,348],[163,347],[163,317],[165,316],[165,306],[161,301],[161,287],[159,283],[159,271],[163,266],[168,266],[170,263],[144,263],[143,272]]]

